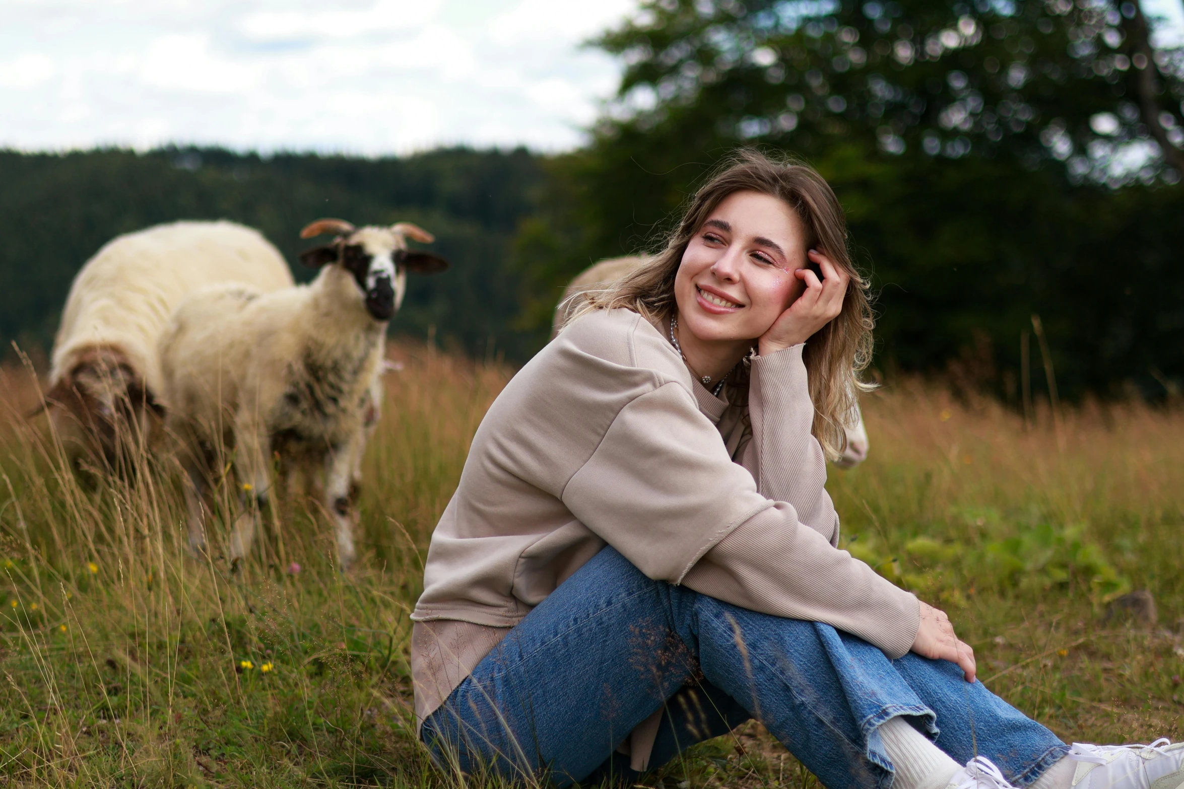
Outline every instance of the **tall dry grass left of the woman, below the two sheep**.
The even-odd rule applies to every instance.
[[[443,778],[410,716],[407,613],[468,442],[508,379],[394,347],[367,455],[360,569],[320,507],[285,497],[231,576],[185,551],[167,454],[136,484],[79,477],[26,370],[0,377],[0,782],[305,785]],[[227,486],[229,487],[229,486]],[[234,509],[219,492],[223,523]]]

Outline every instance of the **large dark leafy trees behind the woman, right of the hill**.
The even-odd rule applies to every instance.
[[[617,101],[548,163],[516,241],[530,315],[588,263],[658,242],[755,144],[838,193],[881,369],[1017,397],[1038,312],[1063,389],[1163,395],[1184,379],[1184,91],[1180,53],[1146,54],[1139,25],[1109,0],[648,2],[599,40],[626,63]]]

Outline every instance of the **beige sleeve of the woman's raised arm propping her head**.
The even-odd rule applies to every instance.
[[[802,351],[805,345],[757,356],[748,387],[752,438],[736,460],[761,496],[793,505],[802,523],[838,544],[838,515],[826,493],[826,457],[811,434],[813,402]]]

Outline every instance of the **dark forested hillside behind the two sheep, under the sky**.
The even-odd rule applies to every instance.
[[[521,361],[539,345],[516,326],[521,287],[507,252],[541,186],[526,150],[436,150],[405,159],[218,149],[147,154],[0,153],[0,342],[49,350],[75,272],[114,237],[178,219],[232,219],[259,228],[288,258],[314,245],[301,228],[321,216],[414,221],[452,269],[412,277],[392,331],[470,354]]]

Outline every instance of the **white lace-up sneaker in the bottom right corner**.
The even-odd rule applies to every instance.
[[[1162,737],[1150,745],[1074,743],[1073,789],[1178,789],[1184,785],[1184,743]]]

